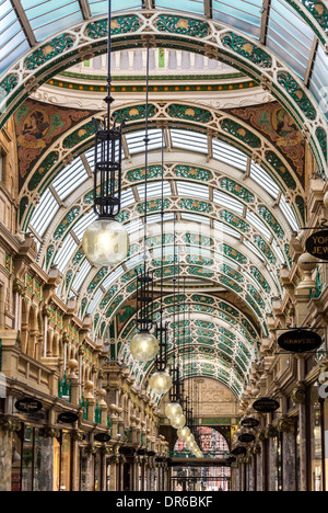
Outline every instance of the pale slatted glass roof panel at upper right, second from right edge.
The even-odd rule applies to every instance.
[[[314,32],[283,0],[272,0],[267,46],[304,79]]]

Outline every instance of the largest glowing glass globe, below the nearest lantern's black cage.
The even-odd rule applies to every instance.
[[[96,266],[116,265],[129,252],[129,235],[124,225],[114,219],[98,219],[83,236],[82,247],[87,259]]]

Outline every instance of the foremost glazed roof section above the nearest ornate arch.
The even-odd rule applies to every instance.
[[[176,2],[113,0],[114,12],[144,8],[174,13]],[[179,11],[212,18],[265,44],[301,77],[318,103],[323,101],[328,68],[328,8],[324,1],[181,0]],[[106,15],[107,0],[0,0],[0,12],[1,76],[38,43],[84,20]]]

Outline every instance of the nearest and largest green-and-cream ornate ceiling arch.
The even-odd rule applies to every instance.
[[[106,50],[107,21],[85,22],[68,30],[54,41],[43,42],[32,55],[9,70],[0,82],[4,122],[19,102],[22,102],[36,84],[43,83],[56,71],[65,69],[72,61],[85,58],[86,53],[95,54]],[[312,151],[318,167],[325,173],[327,155],[327,122],[320,113],[315,99],[288,66],[280,58],[255,39],[223,23],[218,25],[203,18],[190,18],[188,14],[171,15],[167,12],[139,11],[125,14],[113,21],[113,46],[119,48],[122,39],[125,47],[129,44],[142,44],[140,35],[152,35],[162,46],[188,47],[188,50],[200,52],[227,61],[230,65],[246,71],[255,80],[269,87],[272,94],[294,116],[300,128],[308,135]],[[169,41],[171,39],[171,41]],[[11,103],[12,101],[12,103]],[[9,106],[11,104],[11,106]],[[0,119],[0,121],[1,121]]]

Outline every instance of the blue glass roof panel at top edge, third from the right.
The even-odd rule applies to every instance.
[[[213,0],[213,19],[259,38],[262,3],[262,0]]]

